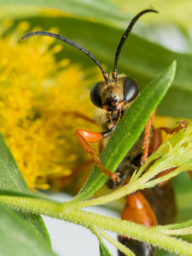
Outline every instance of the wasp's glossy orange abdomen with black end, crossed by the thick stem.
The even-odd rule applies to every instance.
[[[154,211],[148,205],[148,201],[140,191],[127,196],[125,209],[121,214],[121,219],[133,221],[137,224],[144,224],[148,227],[157,224]],[[137,256],[154,255],[154,247],[146,242],[135,241],[125,236],[119,236],[119,241],[126,247],[129,247]],[[123,253],[119,252],[119,256],[123,255]]]

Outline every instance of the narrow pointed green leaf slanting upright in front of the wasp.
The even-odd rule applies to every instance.
[[[174,79],[175,72],[176,62],[174,61],[166,71],[161,73],[143,90],[143,93],[137,97],[129,110],[125,112],[106,148],[102,151],[100,158],[102,165],[111,172],[116,170],[120,161],[124,159],[125,154],[136,143],[154,108],[157,107],[163,96],[166,95],[166,91]],[[108,177],[95,166],[84,188],[70,203],[75,204],[78,201],[88,199],[107,179]]]

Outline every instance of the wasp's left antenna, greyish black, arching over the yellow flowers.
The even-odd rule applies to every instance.
[[[86,49],[84,49],[82,46],[80,46],[79,44],[76,44],[75,42],[73,42],[72,40],[68,39],[68,38],[65,38],[61,35],[58,35],[58,34],[55,34],[55,33],[51,33],[51,32],[45,32],[45,31],[36,31],[36,32],[30,32],[28,34],[26,34],[23,38],[21,38],[22,40],[25,39],[25,38],[31,38],[33,36],[47,36],[47,37],[50,37],[50,38],[56,38],[56,39],[59,39],[61,40],[62,42],[64,43],[67,43],[71,46],[73,46],[74,48],[76,49],[79,49],[80,51],[82,51],[85,55],[88,55],[88,57],[90,57],[91,60],[93,60],[96,65],[98,67],[100,67],[100,69],[102,70],[102,74],[103,74],[103,77],[104,79],[107,81],[109,79],[109,76],[108,76],[108,73],[106,73],[104,71],[104,69],[102,68],[102,65],[99,63],[99,61],[96,60],[96,57],[94,57],[94,55],[91,55],[90,52]]]

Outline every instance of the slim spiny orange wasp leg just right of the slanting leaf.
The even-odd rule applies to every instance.
[[[141,160],[141,165],[144,165],[146,160],[148,159],[148,144],[149,144],[149,137],[150,137],[150,131],[151,131],[151,125],[154,120],[154,115],[155,115],[156,109],[154,109],[153,113],[151,114],[147,125],[145,126],[145,138],[144,138],[144,143],[143,143],[143,157]]]

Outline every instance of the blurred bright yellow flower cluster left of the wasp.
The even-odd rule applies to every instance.
[[[89,160],[74,131],[96,130],[84,117],[91,119],[94,107],[86,73],[66,59],[55,61],[61,44],[44,37],[21,42],[26,22],[4,36],[10,26],[11,20],[0,24],[0,131],[28,186],[48,189],[49,176],[68,176]]]

